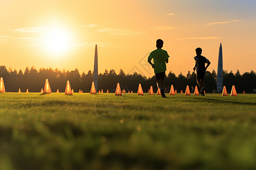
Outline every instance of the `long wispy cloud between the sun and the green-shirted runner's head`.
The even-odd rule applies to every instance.
[[[110,32],[110,35],[125,35],[125,36],[140,35],[141,33],[143,33],[143,32],[135,31],[134,29],[109,28],[109,27],[99,29],[98,32]]]

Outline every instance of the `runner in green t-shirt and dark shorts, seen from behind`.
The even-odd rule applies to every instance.
[[[152,51],[150,55],[148,56],[147,62],[150,63],[152,68],[155,72],[155,79],[156,83],[158,85],[158,88],[160,89],[162,97],[166,98],[166,95],[164,94],[164,90],[166,86],[164,85],[163,79],[166,75],[166,63],[168,63],[168,58],[170,57],[166,50],[162,49],[163,47],[163,40],[158,39],[156,40],[156,50]],[[153,58],[154,64],[151,62],[151,59]]]

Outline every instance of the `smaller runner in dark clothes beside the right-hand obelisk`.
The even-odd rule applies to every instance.
[[[207,68],[210,65],[210,61],[205,58],[204,56],[201,56],[202,54],[202,49],[201,48],[197,48],[196,49],[196,57],[194,57],[195,61],[196,61],[196,65],[193,68],[193,70],[196,70],[196,80],[198,85],[200,86],[200,91],[199,94],[201,94],[202,96],[204,96],[204,75],[205,75],[205,71],[207,70]],[[205,67],[205,63],[207,63],[207,66]]]

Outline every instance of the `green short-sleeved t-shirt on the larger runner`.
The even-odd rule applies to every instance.
[[[168,55],[166,50],[163,49],[156,49],[150,53],[148,56],[148,59],[152,59],[154,61],[155,65],[155,73],[162,73],[166,71],[166,59],[168,59],[170,56]]]

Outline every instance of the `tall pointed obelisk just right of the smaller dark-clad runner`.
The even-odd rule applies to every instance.
[[[222,46],[218,52],[218,72],[217,72],[217,92],[222,92],[223,88],[223,64],[222,64]]]

